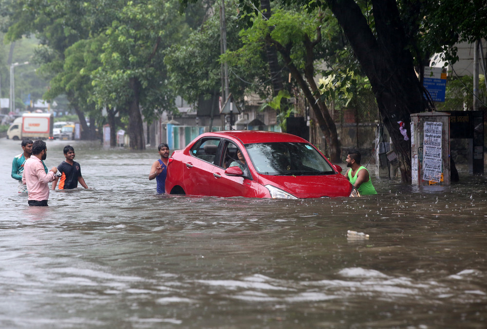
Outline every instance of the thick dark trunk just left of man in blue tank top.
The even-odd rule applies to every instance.
[[[144,138],[144,128],[142,126],[142,115],[139,109],[139,97],[140,97],[140,81],[132,77],[129,80],[130,88],[133,92],[131,101],[129,101],[129,137],[130,148],[132,150],[145,150],[146,143]]]

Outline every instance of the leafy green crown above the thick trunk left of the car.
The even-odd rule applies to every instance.
[[[98,105],[124,107],[137,97],[147,119],[156,112],[175,110],[175,95],[168,87],[164,50],[186,38],[188,29],[176,15],[176,0],[129,1],[107,28],[102,65],[93,73]],[[131,79],[140,84],[134,94]]]

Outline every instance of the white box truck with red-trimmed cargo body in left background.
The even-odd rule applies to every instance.
[[[10,125],[7,138],[53,138],[54,116],[50,113],[24,113]]]

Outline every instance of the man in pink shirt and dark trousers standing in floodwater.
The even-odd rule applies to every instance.
[[[29,206],[47,206],[47,200],[49,199],[49,186],[47,183],[54,180],[57,168],[53,167],[46,174],[42,164],[42,160],[45,160],[46,157],[46,142],[36,140],[32,144],[31,157],[25,160],[24,173],[22,174],[22,183],[27,184]]]

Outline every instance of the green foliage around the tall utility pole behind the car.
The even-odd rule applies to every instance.
[[[232,15],[232,8],[236,7],[235,2],[226,1],[225,7],[228,53],[241,47],[242,42],[239,39],[239,20]],[[218,10],[218,5],[215,5],[214,11]],[[175,93],[189,103],[196,103],[200,96],[209,99],[212,95],[219,95],[222,85],[222,62],[218,60],[219,57],[220,21],[219,16],[214,15],[187,39],[182,39],[166,51],[165,63],[168,66],[169,84]],[[224,57],[222,60],[228,58]],[[245,65],[228,64],[229,89],[235,99],[243,100],[245,91],[264,90],[256,78],[260,76],[262,79],[268,79],[262,74],[266,72],[262,58]]]

